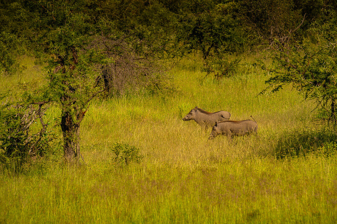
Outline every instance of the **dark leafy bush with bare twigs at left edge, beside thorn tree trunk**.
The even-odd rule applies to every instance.
[[[47,107],[3,102],[0,105],[0,162],[18,168],[28,156],[43,156],[53,139],[43,121]],[[39,121],[41,129],[31,126]]]

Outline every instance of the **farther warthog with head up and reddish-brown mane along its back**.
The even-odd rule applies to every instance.
[[[231,114],[227,111],[221,110],[215,113],[210,113],[196,106],[183,118],[183,121],[194,120],[198,123],[198,125],[207,129],[208,127],[215,125],[215,122],[227,121],[230,117]]]

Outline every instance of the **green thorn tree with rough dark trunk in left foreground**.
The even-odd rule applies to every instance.
[[[41,46],[35,53],[46,62],[49,71],[47,84],[37,93],[28,94],[26,100],[31,104],[54,103],[60,107],[64,157],[68,162],[81,156],[81,122],[89,102],[103,91],[95,86],[97,73],[90,65],[100,57],[94,50],[86,49],[97,27],[81,9],[81,3],[72,1],[23,1],[21,15],[35,16],[37,23],[30,21],[32,29],[39,33],[34,40]],[[52,58],[47,56],[51,54]]]

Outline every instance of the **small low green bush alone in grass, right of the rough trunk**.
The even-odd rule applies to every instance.
[[[111,150],[116,154],[115,162],[128,165],[130,162],[139,163],[143,159],[140,149],[128,144],[115,143]]]

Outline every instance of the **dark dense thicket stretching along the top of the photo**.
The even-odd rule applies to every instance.
[[[62,5],[67,6],[66,9]],[[70,14],[86,15],[88,26],[74,32],[103,32],[169,56],[200,50],[204,57],[253,50],[275,38],[302,40],[313,21],[324,22],[336,10],[333,0],[179,0],[179,1],[33,1],[0,3],[0,31],[28,38],[35,51],[50,52],[49,30],[62,26]],[[303,23],[302,23],[303,21]],[[75,22],[75,21],[74,21]],[[99,28],[99,29],[98,29]],[[80,34],[80,33],[79,33]],[[135,43],[137,42],[137,43]],[[178,47],[179,46],[179,47]],[[145,50],[149,53],[149,49]],[[174,52],[173,52],[174,51]],[[151,52],[153,53],[153,52]],[[164,56],[161,55],[161,56]]]

